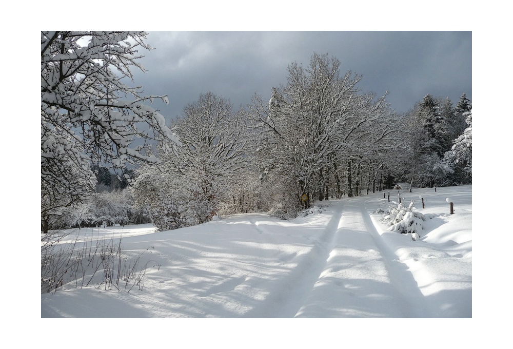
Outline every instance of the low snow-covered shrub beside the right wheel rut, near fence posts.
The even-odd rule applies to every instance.
[[[422,231],[422,222],[426,221],[426,217],[414,209],[413,201],[408,206],[400,202],[397,207],[389,206],[385,211],[381,209],[383,212],[381,221],[390,225],[388,231],[410,234],[412,240],[418,240],[419,232]],[[376,213],[380,212],[376,211]]]

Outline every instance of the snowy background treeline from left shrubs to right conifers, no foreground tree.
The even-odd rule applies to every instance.
[[[339,66],[318,54],[307,68],[291,64],[287,84],[272,88],[269,102],[254,96],[240,110],[220,96],[200,95],[172,125],[182,146],[161,147],[160,165],[136,171],[135,202],[167,230],[238,212],[293,218],[313,200],[359,196],[399,181],[471,181],[468,164],[449,157],[467,126],[465,94],[456,106],[426,95],[397,114],[385,96],[360,92],[361,76],[340,76]]]

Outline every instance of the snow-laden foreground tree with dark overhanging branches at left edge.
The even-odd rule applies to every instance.
[[[179,142],[164,117],[129,87],[139,50],[150,49],[142,31],[41,32],[42,220],[80,203],[93,190],[92,163],[123,168],[135,160],[156,163],[148,141]],[[44,224],[46,231],[48,226]]]

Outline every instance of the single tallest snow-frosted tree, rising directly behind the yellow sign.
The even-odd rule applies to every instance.
[[[267,105],[255,97],[249,106],[248,117],[262,133],[265,169],[283,176],[283,196],[298,209],[302,197],[309,206],[312,193],[321,191],[325,166],[344,137],[340,126],[356,118],[351,98],[361,77],[350,71],[341,77],[339,66],[336,58],[314,53],[308,68],[288,66],[287,84],[272,89]]]

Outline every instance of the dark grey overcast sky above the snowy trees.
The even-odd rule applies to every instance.
[[[270,98],[286,83],[287,65],[307,66],[314,53],[327,53],[347,70],[363,75],[363,92],[383,95],[391,108],[406,112],[427,93],[456,104],[472,100],[470,31],[150,31],[151,51],[135,72],[144,94],[167,94],[155,103],[166,120],[182,113],[200,93],[229,99],[234,108],[254,93]]]

